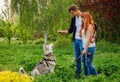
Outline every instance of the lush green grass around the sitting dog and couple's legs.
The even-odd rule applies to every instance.
[[[73,44],[55,45],[56,56],[55,73],[35,76],[35,82],[120,82],[120,44],[99,41],[93,64],[98,76],[74,79],[75,60]],[[18,72],[22,66],[28,74],[37,62],[43,58],[42,44],[6,44],[0,42],[0,71],[10,70]]]

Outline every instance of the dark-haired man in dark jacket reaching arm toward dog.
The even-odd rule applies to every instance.
[[[76,6],[70,6],[70,14],[73,16],[71,19],[70,28],[68,30],[58,30],[60,34],[70,34],[73,33],[73,46],[74,46],[74,56],[76,59],[76,75],[75,78],[80,78],[81,73],[81,58],[80,54],[82,52],[82,40],[79,36],[80,29],[82,27],[82,12]]]

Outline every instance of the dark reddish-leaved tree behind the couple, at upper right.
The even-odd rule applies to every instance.
[[[90,11],[94,20],[102,19],[99,25],[103,29],[103,38],[112,42],[120,40],[120,1],[119,0],[74,0],[84,11]],[[99,14],[99,17],[96,16]]]

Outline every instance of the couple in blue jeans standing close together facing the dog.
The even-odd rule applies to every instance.
[[[70,6],[69,12],[73,16],[71,19],[70,28],[68,30],[58,30],[60,34],[73,33],[74,56],[76,59],[76,75],[75,78],[80,78],[81,73],[81,56],[84,64],[84,74],[98,75],[92,65],[93,55],[95,52],[95,27],[92,16],[89,12],[82,13],[78,7]],[[89,53],[89,55],[86,55]],[[80,57],[80,58],[79,58]]]

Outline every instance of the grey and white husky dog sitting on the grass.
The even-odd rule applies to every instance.
[[[54,73],[55,68],[55,56],[53,55],[53,44],[43,45],[44,58],[40,61],[31,71],[31,76],[42,75],[45,73]],[[24,69],[19,69],[20,74],[26,74]]]

